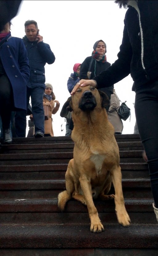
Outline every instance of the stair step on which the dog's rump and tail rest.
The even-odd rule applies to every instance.
[[[95,200],[95,207],[101,221],[118,223],[114,201]],[[152,199],[125,199],[125,206],[131,223],[156,224]],[[67,202],[64,212],[60,212],[55,199],[0,200],[0,223],[51,223],[87,224],[90,222],[87,207],[78,201]]]

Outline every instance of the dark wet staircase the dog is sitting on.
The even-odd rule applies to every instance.
[[[158,255],[148,165],[139,135],[116,135],[122,186],[132,224],[118,224],[113,201],[95,201],[105,232],[91,233],[87,207],[71,200],[65,212],[57,196],[73,157],[68,136],[16,138],[0,150],[0,255]],[[111,193],[114,193],[111,187]]]

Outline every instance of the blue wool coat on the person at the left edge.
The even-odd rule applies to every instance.
[[[30,66],[22,39],[11,37],[11,33],[0,41],[0,58],[13,88],[14,107],[26,110],[26,84]]]

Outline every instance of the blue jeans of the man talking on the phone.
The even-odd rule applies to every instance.
[[[44,134],[43,94],[44,86],[27,87],[27,107],[31,97],[35,133],[40,131]],[[26,111],[16,112],[15,128],[17,137],[26,137]]]

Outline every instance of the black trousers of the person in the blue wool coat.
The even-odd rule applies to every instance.
[[[6,74],[0,74],[0,115],[3,130],[10,128],[10,117],[13,107],[13,90]]]

